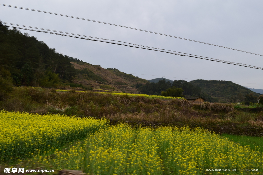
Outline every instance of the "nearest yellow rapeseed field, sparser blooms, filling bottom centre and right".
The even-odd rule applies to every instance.
[[[263,169],[262,153],[200,128],[134,129],[124,124],[95,132],[56,150],[54,156],[37,155],[33,162],[94,175],[260,174],[237,169]],[[208,172],[207,168],[232,171]]]

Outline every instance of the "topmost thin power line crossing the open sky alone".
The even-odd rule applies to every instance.
[[[69,16],[69,15],[63,15],[63,14],[52,13],[52,12],[45,12],[45,11],[42,11],[42,10],[36,10],[36,9],[30,9],[30,8],[24,8],[24,7],[18,7],[18,6],[11,6],[11,5],[7,5],[7,4],[0,4],[0,5],[1,5],[1,6],[7,6],[7,7],[24,9],[24,10],[31,10],[31,11],[36,11],[36,12],[48,13],[48,14],[53,14],[53,15],[59,15],[59,16],[64,16],[64,17],[69,17],[69,18],[81,19],[81,20],[86,20],[86,21],[91,21],[91,22],[96,22],[96,23],[114,25],[114,26],[118,26],[118,27],[123,27],[123,28],[128,28],[128,29],[133,29],[133,30],[139,30],[139,31],[144,31],[144,32],[148,32],[148,33],[153,33],[153,34],[158,34],[158,35],[164,35],[164,36],[169,36],[169,37],[173,37],[173,38],[178,38],[178,39],[183,39],[183,40],[188,40],[188,41],[194,41],[194,42],[197,42],[197,43],[208,44],[208,45],[212,45],[212,46],[217,46],[217,47],[222,47],[222,48],[226,48],[226,49],[231,49],[231,50],[236,50],[236,51],[245,52],[245,53],[249,53],[249,54],[254,54],[254,55],[263,56],[263,55],[260,55],[260,54],[256,54],[256,53],[252,53],[252,52],[247,52],[247,51],[243,51],[243,50],[238,50],[238,49],[233,49],[233,48],[230,48],[230,47],[225,47],[225,46],[220,46],[220,45],[205,43],[205,42],[196,41],[196,40],[192,40],[192,39],[181,38],[181,37],[178,37],[178,36],[167,35],[167,34],[162,34],[162,33],[153,32],[153,31],[148,31],[148,30],[143,30],[143,29],[132,28],[132,27],[123,26],[123,25],[118,25],[118,24],[111,24],[111,23],[106,23],[106,22],[101,22],[101,21],[96,21],[96,20],[91,20],[91,19],[73,17],[73,16]]]

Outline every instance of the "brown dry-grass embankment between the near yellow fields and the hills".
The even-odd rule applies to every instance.
[[[263,126],[262,112],[237,111],[232,104],[204,103],[200,106],[183,99],[164,101],[149,97],[153,96],[15,87],[3,95],[0,109],[190,126]]]

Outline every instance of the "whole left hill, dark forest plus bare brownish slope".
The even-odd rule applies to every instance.
[[[104,69],[100,65],[58,53],[36,37],[15,28],[8,29],[0,21],[1,84],[70,86],[138,93],[136,85],[146,82],[116,68]]]

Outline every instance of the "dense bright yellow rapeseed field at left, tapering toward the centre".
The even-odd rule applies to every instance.
[[[49,151],[103,128],[107,120],[65,115],[0,112],[0,162]]]

